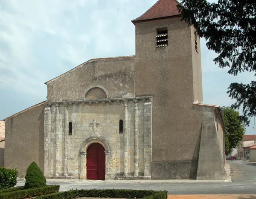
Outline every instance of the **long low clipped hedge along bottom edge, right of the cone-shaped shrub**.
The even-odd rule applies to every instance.
[[[37,199],[73,199],[77,197],[101,197],[101,198],[144,198],[144,199],[167,199],[167,191],[154,190],[125,190],[125,189],[91,189],[69,190],[39,196]]]

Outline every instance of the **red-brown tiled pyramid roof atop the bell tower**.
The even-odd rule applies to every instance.
[[[179,2],[177,0],[158,0],[148,11],[146,11],[140,17],[132,20],[132,23],[137,23],[138,21],[152,20],[163,17],[173,17],[180,15],[177,9]]]

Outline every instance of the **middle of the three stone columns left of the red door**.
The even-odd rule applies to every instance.
[[[59,127],[59,104],[55,106],[55,136],[56,136],[56,161],[55,161],[55,176],[60,173],[60,158],[59,158],[59,148],[60,148],[60,127]]]

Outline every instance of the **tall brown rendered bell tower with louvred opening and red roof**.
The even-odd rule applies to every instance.
[[[192,126],[199,124],[199,114],[192,106],[203,101],[200,38],[193,26],[181,21],[177,4],[176,0],[158,0],[132,20],[136,27],[135,94],[153,96],[152,179],[161,176],[161,169],[165,171],[167,163],[161,162],[197,170],[199,132]]]

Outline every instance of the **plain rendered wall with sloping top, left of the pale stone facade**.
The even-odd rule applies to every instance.
[[[44,103],[8,117],[5,121],[4,166],[17,168],[24,177],[35,161],[44,172]]]

